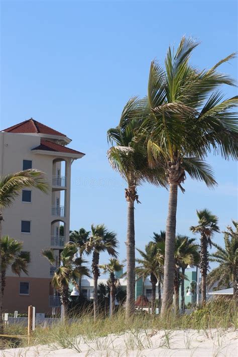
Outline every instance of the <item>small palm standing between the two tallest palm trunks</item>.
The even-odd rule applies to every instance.
[[[157,249],[157,244],[155,242],[149,242],[145,246],[144,252],[140,249],[137,249],[142,258],[136,259],[136,262],[140,264],[136,268],[136,273],[138,277],[146,279],[148,276],[150,276],[150,281],[152,285],[151,308],[153,313],[155,313],[156,284],[158,282],[158,290],[160,295],[161,281],[163,275],[163,266],[161,266],[161,264],[157,260]],[[160,305],[161,296],[159,296],[159,309]]]

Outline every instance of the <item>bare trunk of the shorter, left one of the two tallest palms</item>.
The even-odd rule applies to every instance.
[[[128,226],[127,226],[127,301],[126,318],[135,312],[135,220],[134,220],[134,200],[128,200]]]

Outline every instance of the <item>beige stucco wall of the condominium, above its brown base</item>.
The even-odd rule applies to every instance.
[[[60,196],[60,191],[52,192],[52,172],[53,160],[57,156],[35,154],[31,151],[40,145],[40,137],[36,135],[23,135],[12,133],[0,133],[0,173],[17,172],[23,168],[23,160],[32,160],[32,168],[45,172],[50,184],[48,194],[44,194],[37,189],[32,189],[32,202],[22,202],[22,193],[14,204],[4,210],[3,234],[8,234],[17,240],[24,242],[24,251],[30,251],[31,263],[28,266],[29,277],[31,278],[50,278],[50,264],[41,255],[41,250],[50,247],[51,242],[51,222],[58,217],[52,216],[51,207],[55,202],[56,196]],[[71,159],[68,161],[68,180],[66,190],[66,217],[65,237],[69,240],[69,197],[70,197],[70,169]],[[60,163],[57,163],[57,167]],[[64,202],[60,203],[64,205]],[[21,220],[31,221],[31,233],[21,233]],[[9,270],[8,276],[14,277]],[[23,274],[23,277],[26,275]]]

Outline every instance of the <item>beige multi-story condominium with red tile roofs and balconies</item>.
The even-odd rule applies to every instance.
[[[71,165],[84,156],[68,148],[70,142],[66,135],[32,118],[0,132],[1,175],[38,169],[45,173],[50,187],[48,194],[22,190],[3,212],[3,235],[22,241],[29,257],[28,275],[18,277],[11,269],[7,271],[4,310],[9,312],[26,312],[29,305],[36,312],[48,312],[59,304],[51,279],[69,241]],[[45,248],[54,250],[55,267],[41,255]]]

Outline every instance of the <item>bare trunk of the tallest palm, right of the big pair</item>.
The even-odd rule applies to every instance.
[[[178,185],[170,183],[169,207],[166,222],[164,292],[161,308],[162,315],[165,315],[166,310],[170,308],[173,303],[177,196]]]

